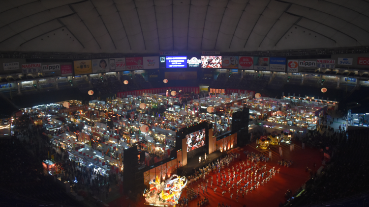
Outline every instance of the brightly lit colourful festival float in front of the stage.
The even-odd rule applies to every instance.
[[[149,184],[150,189],[145,189],[144,192],[145,205],[169,207],[178,203],[187,179],[173,174],[168,180],[160,183],[156,176],[156,179],[150,181]]]

